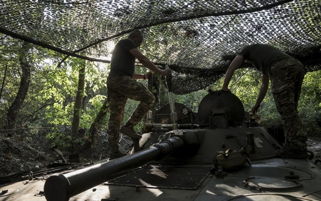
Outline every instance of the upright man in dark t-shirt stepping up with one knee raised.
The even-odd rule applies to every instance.
[[[135,30],[126,39],[118,41],[111,57],[110,72],[107,78],[107,99],[110,116],[108,120],[108,141],[111,146],[110,160],[124,156],[119,151],[119,132],[131,138],[141,138],[133,127],[146,115],[155,102],[152,93],[140,82],[134,79],[145,79],[147,74],[135,73],[135,59],[152,71],[163,76],[172,77],[170,70],[157,68],[146,56],[140,53],[137,47],[143,41],[140,30]],[[132,113],[127,123],[120,129],[124,118],[124,108],[127,98],[139,101],[139,105]]]

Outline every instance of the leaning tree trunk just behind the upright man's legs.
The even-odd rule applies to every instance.
[[[106,117],[107,111],[109,109],[107,98],[105,99],[102,107],[100,108],[100,111],[98,115],[96,116],[94,122],[90,126],[90,129],[88,131],[89,138],[86,138],[86,141],[80,146],[78,152],[81,153],[85,151],[86,149],[90,148],[91,145],[94,143],[95,140],[95,134],[101,124],[101,121]]]

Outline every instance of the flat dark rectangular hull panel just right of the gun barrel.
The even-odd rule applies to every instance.
[[[197,189],[208,174],[208,167],[146,166],[104,184]]]

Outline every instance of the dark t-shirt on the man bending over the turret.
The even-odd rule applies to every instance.
[[[268,75],[270,66],[275,62],[286,58],[293,58],[281,50],[266,44],[244,46],[238,55],[243,56],[243,62],[245,59],[249,60],[256,69],[262,71],[265,75]]]

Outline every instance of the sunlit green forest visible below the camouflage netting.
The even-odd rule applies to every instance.
[[[112,50],[110,50],[112,51]],[[0,139],[31,143],[45,139],[51,149],[62,152],[86,151],[99,135],[107,135],[108,104],[106,79],[109,64],[85,61],[44,49],[6,35],[0,35]],[[136,67],[137,73],[146,68]],[[159,104],[168,103],[163,78],[154,74],[159,83]],[[321,71],[307,72],[304,77],[298,111],[309,137],[321,136]],[[139,80],[147,85],[147,80]],[[230,82],[245,111],[254,105],[259,91],[261,73],[249,68],[235,72]],[[197,112],[208,89],[220,90],[223,77],[203,90],[174,94],[175,102]],[[153,89],[154,90],[154,89]],[[124,121],[137,106],[128,100]],[[158,107],[158,108],[157,108]],[[261,104],[258,114],[263,127],[281,125],[271,91]],[[135,127],[140,131],[142,123]],[[1,153],[3,154],[3,153]],[[10,157],[9,157],[10,158]],[[8,159],[9,160],[9,159]]]

